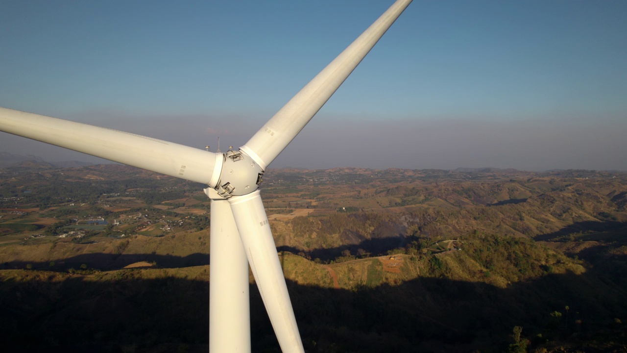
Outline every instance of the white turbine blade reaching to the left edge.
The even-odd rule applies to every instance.
[[[80,122],[0,107],[0,131],[214,187],[223,155]]]

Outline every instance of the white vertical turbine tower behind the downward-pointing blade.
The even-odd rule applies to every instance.
[[[213,188],[209,268],[209,352],[250,352],[248,259],[229,202]]]

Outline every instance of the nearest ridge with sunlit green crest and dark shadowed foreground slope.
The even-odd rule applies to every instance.
[[[534,349],[622,347],[624,329],[614,319],[627,312],[612,276],[527,239],[471,234],[458,246],[335,264],[282,254],[308,351],[498,352],[512,344],[515,326]],[[3,332],[9,347],[201,349],[208,272],[208,266],[0,271]],[[273,351],[254,286],[251,293],[256,349]],[[26,340],[29,330],[39,332],[36,339]]]

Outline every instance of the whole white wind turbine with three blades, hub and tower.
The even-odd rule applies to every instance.
[[[283,352],[303,345],[259,186],[263,171],[314,117],[411,0],[398,0],[238,150],[159,139],[0,108],[0,131],[208,185],[209,351],[250,352],[248,266]]]

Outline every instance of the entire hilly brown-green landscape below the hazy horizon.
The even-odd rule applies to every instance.
[[[3,349],[206,352],[201,186],[124,166],[0,171]],[[626,350],[625,174],[267,174],[308,352]],[[277,352],[252,278],[251,315],[253,350]]]

